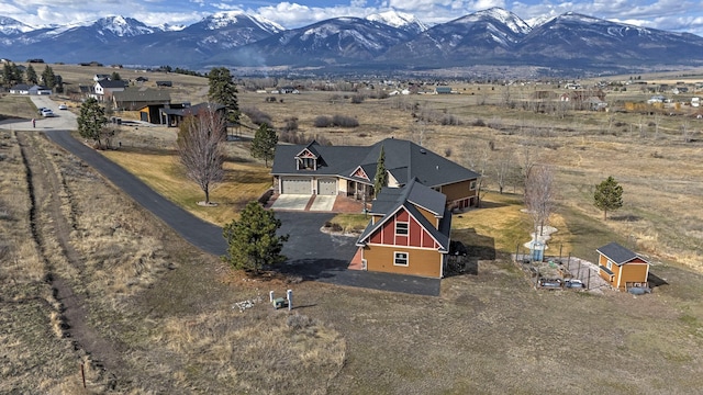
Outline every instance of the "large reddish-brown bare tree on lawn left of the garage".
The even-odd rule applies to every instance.
[[[180,125],[176,140],[186,174],[198,183],[210,204],[210,191],[224,179],[224,142],[227,137],[224,114],[213,106],[188,116]]]

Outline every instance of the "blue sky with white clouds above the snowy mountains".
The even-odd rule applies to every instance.
[[[330,18],[366,16],[390,9],[435,24],[491,7],[504,8],[524,20],[573,11],[703,36],[703,0],[2,0],[0,15],[30,25],[66,24],[108,15],[132,16],[159,25],[190,24],[217,11],[242,10],[293,29]]]

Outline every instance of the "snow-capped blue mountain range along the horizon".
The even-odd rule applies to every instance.
[[[571,12],[536,21],[531,25],[500,8],[433,26],[389,11],[292,30],[241,11],[219,12],[188,26],[147,26],[132,18],[108,16],[35,29],[0,16],[0,56],[15,61],[317,74],[527,66],[574,75],[703,66],[703,37],[694,34]]]

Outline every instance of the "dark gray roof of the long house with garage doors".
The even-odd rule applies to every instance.
[[[324,160],[324,166],[320,166],[316,171],[295,168],[294,157],[306,146],[278,145],[271,173],[275,176],[335,174],[370,184],[376,177],[381,146],[386,156],[386,170],[401,184],[417,179],[427,187],[439,187],[476,179],[479,176],[415,143],[398,138],[387,138],[368,147],[321,146],[315,143],[313,147]],[[359,166],[366,171],[369,180],[352,177]]]

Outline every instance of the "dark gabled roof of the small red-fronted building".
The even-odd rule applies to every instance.
[[[413,202],[422,201],[424,205]],[[382,214],[383,217],[372,224],[369,222],[356,245],[361,247],[386,223],[391,221],[402,210],[406,211],[439,245],[440,252],[449,251],[449,232],[451,229],[451,214],[445,208],[446,196],[415,180],[403,188],[384,188],[373,200],[371,213]],[[421,206],[440,218],[439,227],[435,228],[420,212]],[[432,208],[429,208],[432,207]]]

